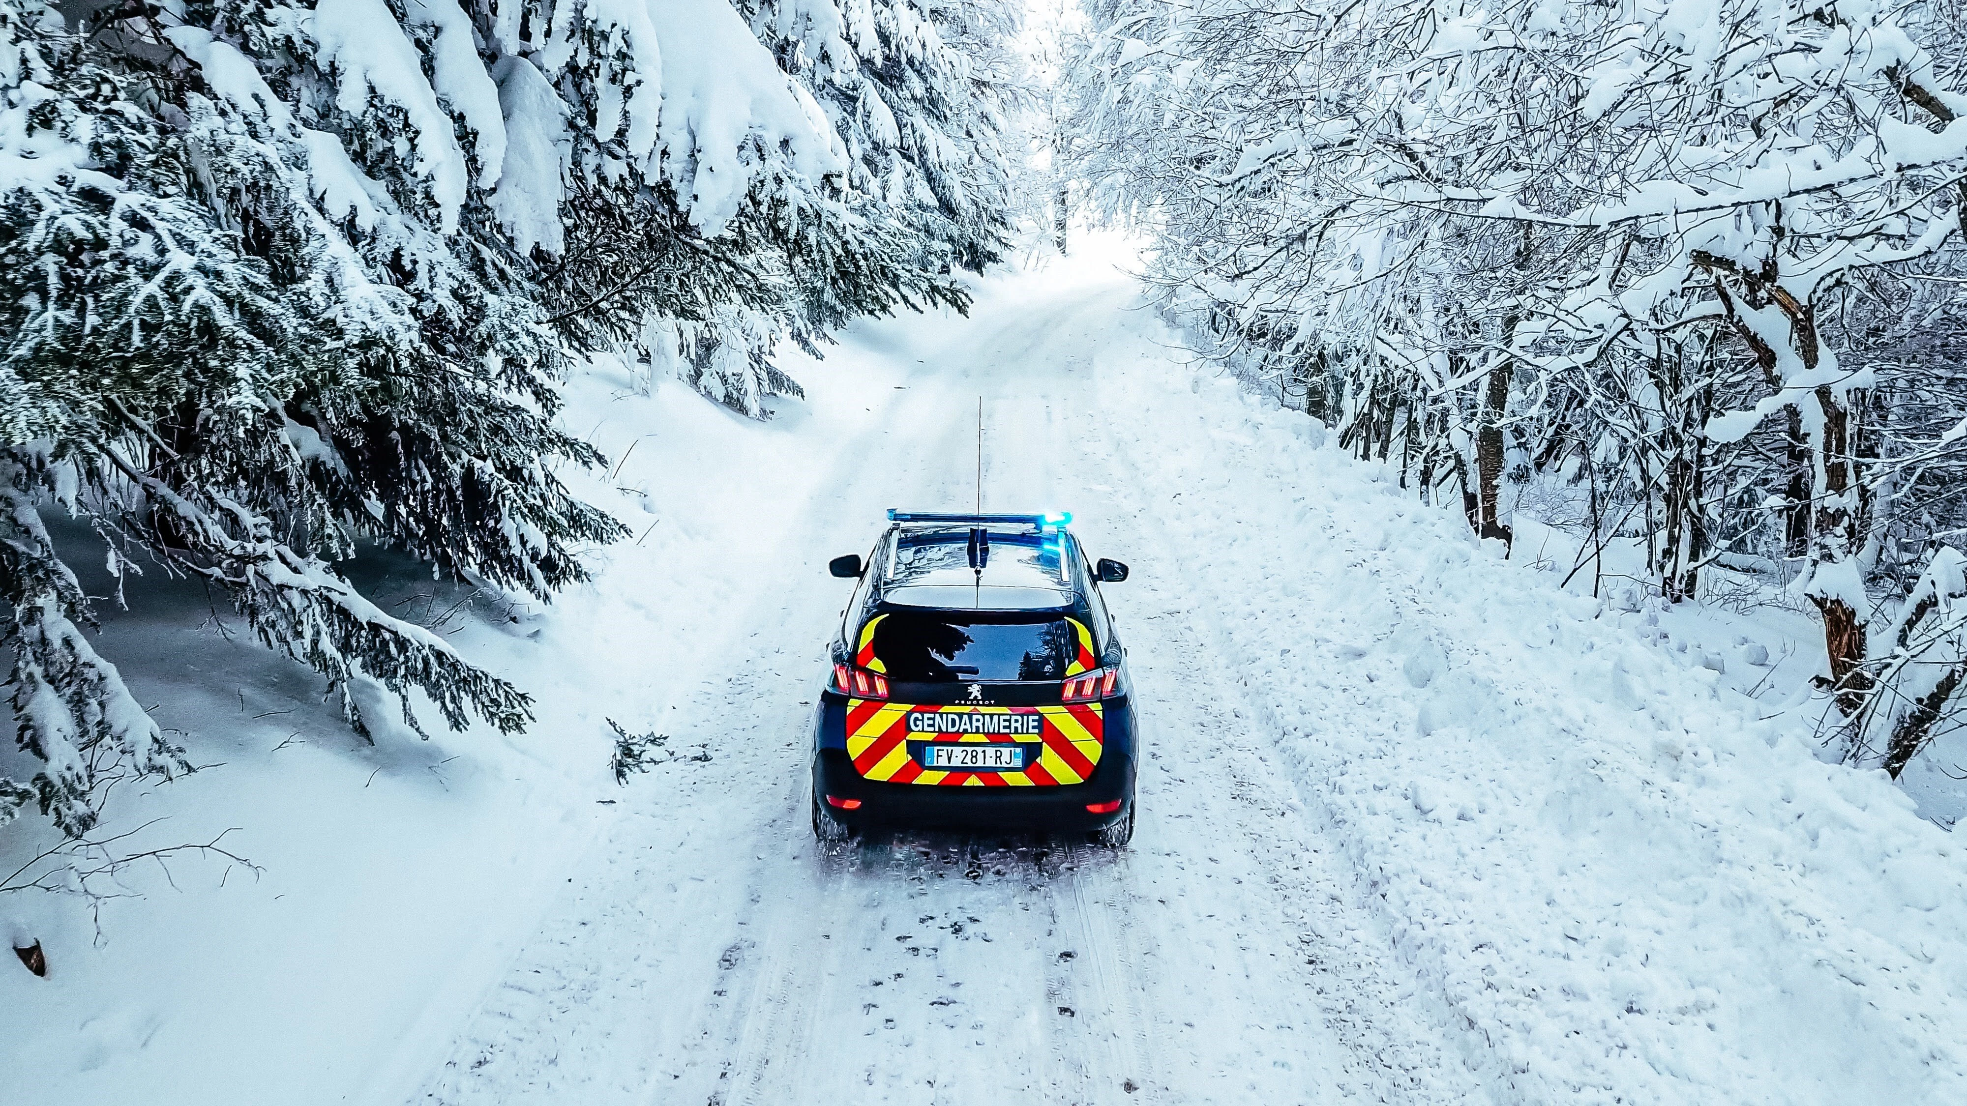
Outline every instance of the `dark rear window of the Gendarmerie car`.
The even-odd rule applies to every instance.
[[[1072,624],[968,622],[948,614],[895,612],[873,630],[873,655],[887,679],[958,683],[966,679],[1064,679]]]

